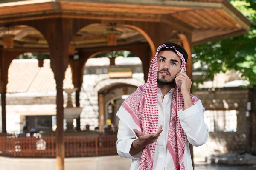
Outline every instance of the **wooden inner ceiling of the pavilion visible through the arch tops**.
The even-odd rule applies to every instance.
[[[84,27],[73,37],[70,44],[76,48],[107,46],[108,28],[109,26],[105,24]],[[0,28],[0,45],[3,45],[3,36],[6,29],[6,27]],[[116,26],[113,29],[115,34],[117,34],[118,45],[146,42],[145,37],[132,28]],[[35,28],[29,26],[13,26],[10,27],[10,31],[14,35],[14,47],[16,48],[48,47],[43,35]]]

